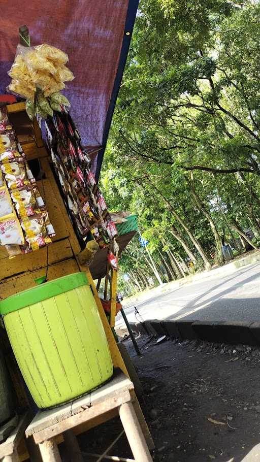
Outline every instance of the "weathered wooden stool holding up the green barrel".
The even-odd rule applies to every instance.
[[[72,429],[84,422],[91,423],[91,426],[98,425],[100,423],[98,418],[106,414],[103,421],[109,420],[117,411],[135,461],[152,462],[141,430],[145,420],[142,413],[138,413],[137,416],[132,403],[134,400],[133,383],[120,370],[116,370],[113,379],[98,390],[58,408],[39,411],[27,427],[25,435],[27,438],[31,435],[34,437],[35,443],[39,445],[43,462],[61,462],[55,437],[63,434],[71,460],[83,462],[83,456]],[[147,442],[149,444],[149,437],[147,437]]]

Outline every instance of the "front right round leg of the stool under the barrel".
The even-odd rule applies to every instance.
[[[119,408],[119,416],[136,462],[152,462],[143,432],[133,404],[124,403]]]

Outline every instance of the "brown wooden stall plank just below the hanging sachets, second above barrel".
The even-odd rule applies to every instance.
[[[1,249],[1,247],[0,247]],[[5,250],[5,249],[4,249]],[[48,254],[47,254],[48,252]],[[6,250],[5,250],[6,253]],[[47,247],[36,250],[35,252],[27,253],[26,255],[17,255],[17,257],[9,259],[8,256],[2,258],[4,252],[0,253],[1,271],[0,283],[10,277],[17,277],[27,271],[35,271],[40,268],[45,268],[48,265],[53,265],[62,260],[67,260],[73,257],[72,248],[69,239],[53,242]]]

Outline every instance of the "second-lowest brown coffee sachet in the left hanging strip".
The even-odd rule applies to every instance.
[[[12,201],[19,218],[39,214],[45,207],[37,186],[24,186],[11,192]]]

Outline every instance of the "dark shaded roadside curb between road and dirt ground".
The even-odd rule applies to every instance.
[[[134,332],[139,335],[171,337],[180,340],[204,340],[213,343],[260,345],[260,321],[199,321],[178,319],[176,321],[145,321],[134,324]],[[133,325],[131,326],[133,327]]]

